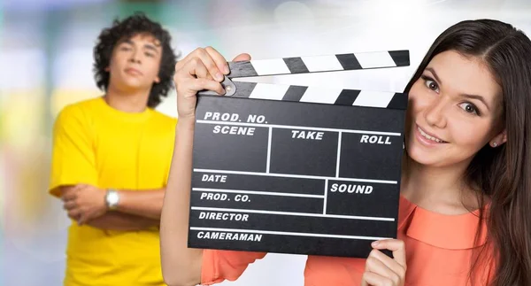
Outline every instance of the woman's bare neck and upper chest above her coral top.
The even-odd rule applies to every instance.
[[[415,205],[443,214],[462,214],[477,208],[464,174],[468,162],[452,166],[423,166],[404,156],[401,194]]]

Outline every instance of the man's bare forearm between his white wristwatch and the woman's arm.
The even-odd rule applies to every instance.
[[[119,190],[118,211],[160,220],[165,189]]]

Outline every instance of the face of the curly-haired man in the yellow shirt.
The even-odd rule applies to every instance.
[[[134,92],[150,89],[160,81],[158,70],[162,48],[158,40],[149,34],[138,34],[122,40],[112,50],[107,67],[110,83],[116,89]]]

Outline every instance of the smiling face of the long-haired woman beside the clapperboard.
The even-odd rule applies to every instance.
[[[501,94],[481,58],[437,54],[409,92],[408,155],[426,166],[467,165],[485,144],[503,143]]]

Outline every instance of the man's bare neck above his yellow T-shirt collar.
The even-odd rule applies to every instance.
[[[148,105],[150,90],[120,90],[109,85],[104,99],[109,106],[121,112],[143,112]]]

